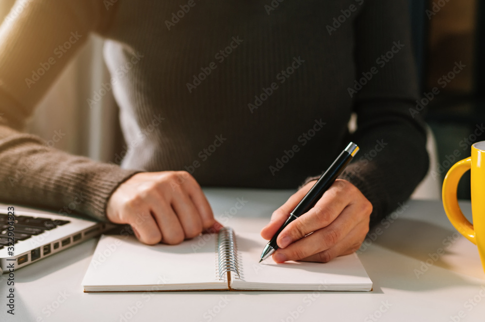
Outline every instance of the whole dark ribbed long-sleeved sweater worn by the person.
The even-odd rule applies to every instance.
[[[62,209],[82,192],[77,210],[103,219],[135,170],[185,169],[203,186],[296,188],[353,140],[361,151],[341,177],[372,202],[376,220],[427,170],[422,114],[409,111],[417,89],[404,0],[22,6],[0,32],[1,201]],[[127,142],[121,168],[20,132],[90,32],[106,39],[105,89]],[[57,58],[53,50],[74,39]],[[56,63],[34,77],[50,57]]]

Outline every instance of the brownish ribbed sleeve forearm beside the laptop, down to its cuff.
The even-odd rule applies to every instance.
[[[35,136],[0,126],[0,200],[106,219],[119,184],[138,171],[52,148]]]

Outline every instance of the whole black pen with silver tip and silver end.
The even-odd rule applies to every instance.
[[[310,210],[315,203],[322,198],[323,193],[330,188],[330,186],[335,182],[337,177],[340,175],[340,173],[342,173],[343,169],[345,169],[347,164],[350,162],[350,160],[352,160],[358,151],[359,147],[357,144],[350,142],[345,150],[340,153],[337,159],[335,159],[330,167],[320,176],[318,181],[307,192],[305,197],[303,197],[303,199],[296,205],[295,209],[293,209],[293,211],[290,213],[290,216],[285,223],[278,229],[278,231],[276,231],[273,238],[268,242],[268,244],[266,244],[263,252],[261,253],[261,260],[259,260],[259,262],[270,257],[270,255],[279,248],[276,244],[276,239],[278,238],[281,230],[283,230],[299,216],[307,213],[308,210]]]

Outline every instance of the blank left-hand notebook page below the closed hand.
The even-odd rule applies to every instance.
[[[216,273],[216,238],[145,245],[134,236],[103,235],[82,286],[85,291],[227,289]]]

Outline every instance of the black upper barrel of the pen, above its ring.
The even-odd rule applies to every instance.
[[[332,165],[323,173],[313,187],[311,187],[305,197],[298,203],[295,209],[293,209],[291,215],[299,217],[307,213],[339,177],[340,173],[345,169],[345,166],[352,160],[352,157],[353,155],[351,153],[342,151]]]

